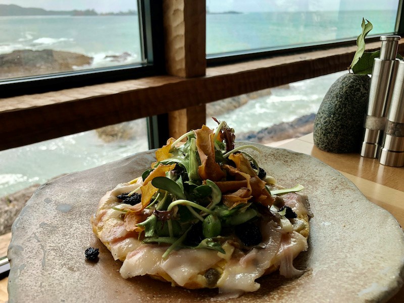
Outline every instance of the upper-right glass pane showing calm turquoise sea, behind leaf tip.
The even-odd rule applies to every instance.
[[[284,48],[356,38],[362,18],[370,35],[393,33],[398,0],[207,0],[207,54]]]

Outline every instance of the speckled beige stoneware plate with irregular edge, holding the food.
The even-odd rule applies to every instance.
[[[264,277],[260,290],[232,302],[379,302],[392,296],[404,274],[404,234],[395,219],[313,157],[259,146],[263,152],[255,156],[263,168],[284,186],[303,184],[309,196],[310,248],[295,260],[308,271],[298,279]],[[41,186],[13,225],[9,302],[210,301],[217,290],[121,278],[121,262],[91,231],[99,198],[153,160],[148,151]],[[85,261],[89,246],[100,248],[95,264]]]

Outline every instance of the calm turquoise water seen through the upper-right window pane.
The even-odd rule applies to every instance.
[[[361,33],[362,18],[370,34],[394,31],[396,11],[287,12],[207,15],[207,54],[300,45]]]

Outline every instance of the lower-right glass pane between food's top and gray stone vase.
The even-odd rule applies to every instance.
[[[308,134],[325,94],[343,74],[346,71],[209,103],[207,125],[217,126],[211,117],[224,120],[234,128],[236,140],[262,144]]]

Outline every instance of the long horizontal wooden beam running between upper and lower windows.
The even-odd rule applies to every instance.
[[[356,46],[0,99],[0,150],[346,70]],[[368,43],[367,50],[380,48]],[[404,53],[404,41],[399,43]]]

